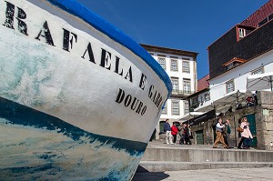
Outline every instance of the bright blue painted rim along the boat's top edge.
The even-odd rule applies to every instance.
[[[149,65],[157,75],[164,81],[167,86],[168,96],[170,96],[172,91],[172,84],[169,76],[166,71],[157,63],[157,61],[147,53],[147,51],[141,46],[138,45],[134,40],[129,36],[125,35],[114,25],[109,24],[101,16],[96,15],[92,11],[86,8],[86,6],[81,5],[76,0],[47,0],[53,5],[56,5],[66,12],[76,15],[77,17],[83,19],[89,25],[95,27],[98,31],[108,35],[110,38],[115,40],[121,45],[126,46],[134,54],[141,57],[147,65]]]

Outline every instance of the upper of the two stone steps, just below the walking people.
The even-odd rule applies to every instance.
[[[142,161],[166,162],[273,162],[273,151],[195,147],[147,147]]]

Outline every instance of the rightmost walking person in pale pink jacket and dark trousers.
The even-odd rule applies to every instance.
[[[242,123],[240,125],[241,128],[244,129],[244,131],[241,133],[241,140],[238,143],[238,149],[249,149],[250,147],[250,141],[253,139],[253,136],[249,129],[249,123],[247,117],[242,118]],[[244,144],[244,147],[241,147],[242,144]]]

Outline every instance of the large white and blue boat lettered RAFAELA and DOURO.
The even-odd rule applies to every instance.
[[[0,21],[0,177],[130,180],[166,73],[74,1],[1,0]]]

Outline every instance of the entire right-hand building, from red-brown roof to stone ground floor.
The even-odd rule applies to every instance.
[[[238,126],[239,118],[244,116],[254,137],[251,146],[271,145],[271,97],[268,96],[271,94],[265,91],[273,91],[272,2],[268,1],[208,45],[209,87],[188,96],[190,110],[194,108],[195,113],[202,114],[187,121],[191,125],[194,144],[214,143],[218,117],[233,120],[233,130]],[[253,95],[260,90],[258,96]],[[238,133],[233,133],[231,140],[236,146]]]

